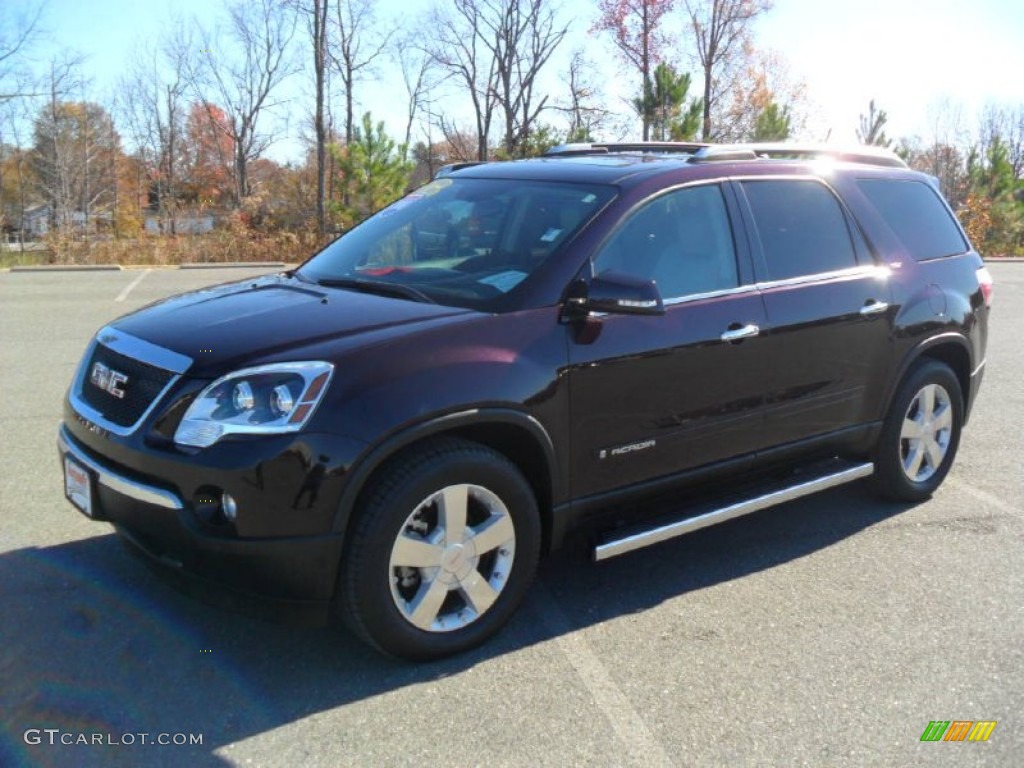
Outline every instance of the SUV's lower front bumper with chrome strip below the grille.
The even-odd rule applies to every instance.
[[[243,599],[292,603],[302,613],[326,614],[341,556],[339,534],[259,539],[211,534],[174,489],[112,466],[63,424],[57,451],[61,466],[70,456],[89,474],[92,518],[112,522],[153,561],[193,582],[226,587]],[[224,602],[223,596],[210,597]]]

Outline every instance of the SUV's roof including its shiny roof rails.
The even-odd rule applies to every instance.
[[[743,173],[831,161],[892,170],[907,168],[897,155],[879,146],[801,143],[706,144],[645,141],[563,144],[541,158],[483,163],[453,172],[468,178],[508,178],[623,184],[689,167],[694,177]],[[723,166],[728,165],[728,168]],[[698,169],[703,168],[703,172]],[[714,169],[714,170],[711,170]]]

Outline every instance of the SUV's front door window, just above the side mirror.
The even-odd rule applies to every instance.
[[[594,258],[594,272],[653,280],[663,298],[735,288],[736,252],[718,184],[677,189],[630,215]]]

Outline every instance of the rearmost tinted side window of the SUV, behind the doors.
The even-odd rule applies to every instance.
[[[923,181],[860,179],[857,185],[915,261],[967,251],[938,193]]]

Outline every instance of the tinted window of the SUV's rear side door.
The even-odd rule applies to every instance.
[[[839,201],[816,181],[744,181],[764,249],[768,280],[857,265]]]

